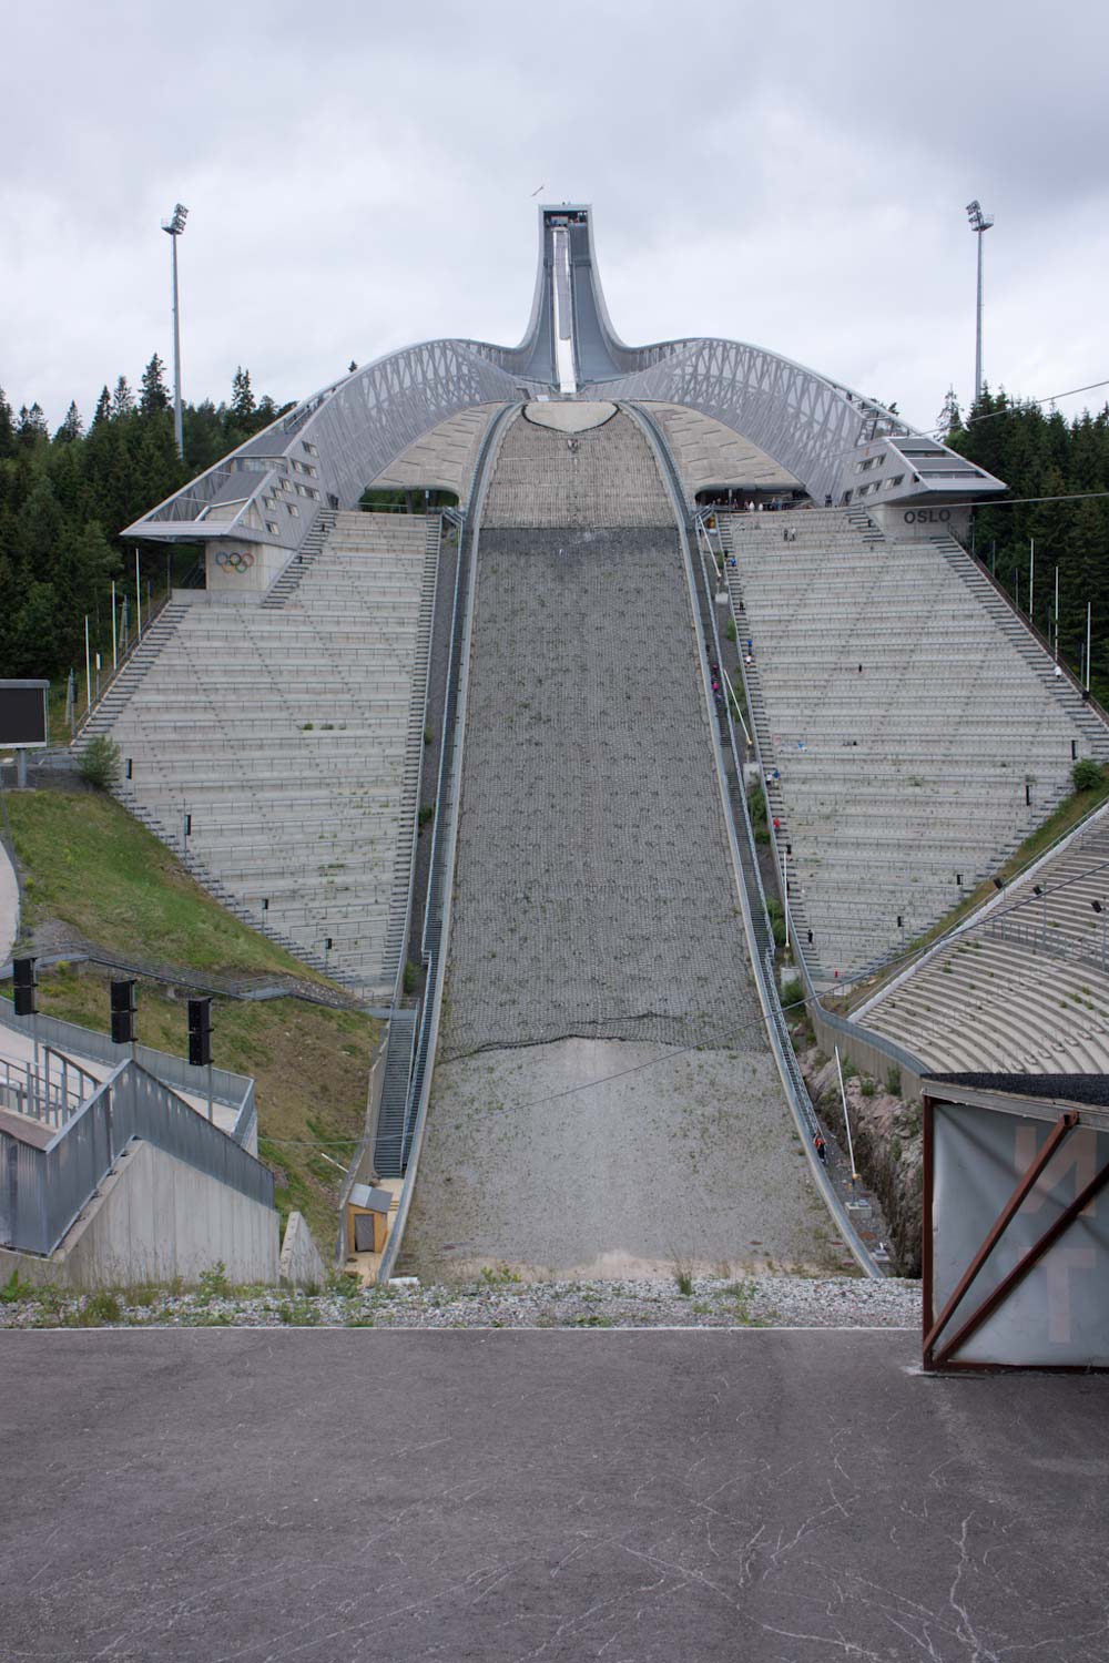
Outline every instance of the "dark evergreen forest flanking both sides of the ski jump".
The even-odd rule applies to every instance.
[[[38,404],[15,414],[0,389],[0,677],[81,679],[86,617],[93,652],[110,654],[113,579],[135,605],[135,552],[120,529],[288,407],[256,399],[239,368],[228,402],[185,406],[181,461],[156,354],[135,392],[125,376],[105,386],[88,427],[70,404],[52,434]],[[976,511],[974,552],[1026,615],[1033,577],[1031,617],[1052,644],[1057,567],[1061,655],[1084,677],[1089,604],[1091,687],[1109,703],[1109,404],[1067,421],[986,389],[966,421],[954,406],[946,414],[948,444],[1009,486],[1011,502]],[[175,582],[195,557],[176,550]],[[140,550],[140,567],[143,594],[165,592],[165,550]]]

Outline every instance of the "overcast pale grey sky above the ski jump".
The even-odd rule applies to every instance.
[[[590,201],[633,344],[723,334],[931,427],[974,369],[1109,378],[1094,0],[38,0],[5,7],[0,384],[55,426],[170,359],[284,401],[409,341],[515,343],[535,203]],[[1069,399],[1069,414],[1089,399]]]

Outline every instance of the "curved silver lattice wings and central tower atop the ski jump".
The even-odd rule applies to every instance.
[[[369,481],[447,417],[535,397],[698,411],[818,502],[969,502],[1006,489],[873,399],[776,353],[700,338],[627,346],[605,308],[592,211],[560,203],[539,210],[535,296],[519,346],[444,339],[387,353],[304,399],[126,535],[294,550],[321,509],[354,507]]]

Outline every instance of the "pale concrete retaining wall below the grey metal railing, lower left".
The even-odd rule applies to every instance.
[[[0,1277],[126,1287],[196,1282],[219,1262],[229,1282],[276,1284],[278,1214],[133,1137],[58,1251],[38,1259],[0,1249]]]

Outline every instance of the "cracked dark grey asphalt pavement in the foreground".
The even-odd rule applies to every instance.
[[[1101,1663],[1109,1382],[929,1380],[918,1352],[780,1330],[0,1334],[0,1650]]]

